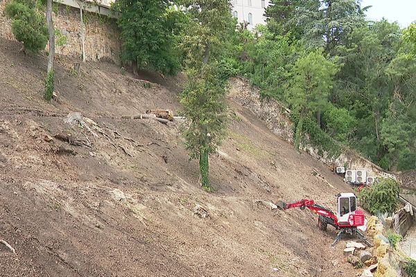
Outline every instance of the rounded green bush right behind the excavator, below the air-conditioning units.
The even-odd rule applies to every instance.
[[[393,213],[397,209],[397,196],[400,186],[391,178],[376,179],[374,184],[363,188],[358,193],[361,206],[373,215],[376,213]]]

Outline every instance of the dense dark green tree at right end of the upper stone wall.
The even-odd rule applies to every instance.
[[[117,0],[113,8],[120,12],[121,59],[140,69],[164,74],[180,70],[181,57],[177,35],[184,20],[183,12],[170,8],[168,0]]]

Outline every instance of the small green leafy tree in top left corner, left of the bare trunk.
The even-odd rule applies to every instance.
[[[12,19],[12,33],[24,45],[24,51],[37,55],[48,42],[46,19],[35,9],[33,0],[12,0],[5,15]]]

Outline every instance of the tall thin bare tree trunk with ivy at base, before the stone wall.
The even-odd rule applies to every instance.
[[[46,1],[46,22],[48,23],[49,31],[49,55],[48,55],[48,69],[45,81],[44,98],[48,101],[52,99],[54,90],[54,75],[53,60],[55,58],[55,28],[53,28],[52,19],[52,0]]]

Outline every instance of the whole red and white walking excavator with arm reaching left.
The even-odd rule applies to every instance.
[[[367,240],[363,233],[358,229],[364,226],[364,213],[357,210],[357,198],[354,193],[340,193],[337,195],[338,215],[333,213],[329,208],[324,208],[315,204],[313,200],[302,199],[300,201],[287,204],[281,200],[276,204],[279,208],[287,210],[288,208],[309,208],[313,213],[318,214],[318,226],[322,231],[327,230],[327,226],[332,225],[339,230],[336,239],[333,241],[334,246],[340,238],[345,234],[356,235],[361,238],[368,246],[372,247],[372,243]]]

